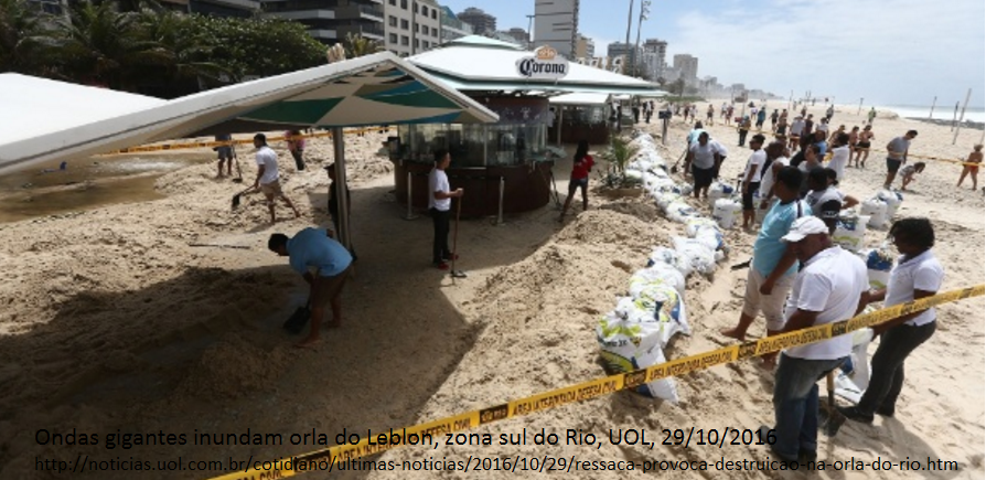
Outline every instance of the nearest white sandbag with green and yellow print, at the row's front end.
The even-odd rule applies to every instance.
[[[621,299],[620,305],[629,299]],[[639,310],[633,307],[634,310]],[[661,331],[667,322],[643,320],[645,317],[634,314],[624,316],[614,310],[603,316],[596,328],[596,337],[599,341],[601,356],[608,370],[615,373],[626,373],[640,369],[664,363],[664,352],[660,345]],[[650,397],[663,398],[671,402],[678,401],[677,390],[672,378],[662,378],[641,385],[636,392]]]

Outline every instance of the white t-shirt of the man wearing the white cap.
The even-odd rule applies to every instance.
[[[856,313],[860,294],[869,289],[866,264],[839,246],[818,252],[794,279],[784,308],[790,320],[799,309],[816,311],[816,326],[848,320]],[[805,360],[836,360],[849,356],[853,335],[843,334],[807,345],[792,346],[787,356]]]

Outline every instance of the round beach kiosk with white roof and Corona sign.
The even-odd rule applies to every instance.
[[[556,132],[564,120],[550,110],[551,97],[661,93],[656,85],[637,78],[569,63],[549,46],[530,52],[476,35],[408,61],[500,117],[484,125],[404,125],[390,139],[398,201],[427,210],[435,152],[447,150],[452,156],[449,182],[453,189],[467,190],[464,216],[527,212],[548,203],[555,160],[547,149],[548,131]]]

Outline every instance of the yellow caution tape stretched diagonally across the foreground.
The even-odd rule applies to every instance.
[[[562,405],[609,395],[621,390],[634,388],[655,380],[680,376],[687,373],[707,370],[716,365],[731,363],[737,360],[760,356],[767,353],[790,349],[792,346],[821,342],[823,340],[832,339],[833,337],[843,335],[866,327],[872,327],[931,307],[966,298],[980,297],[984,295],[984,289],[986,289],[986,285],[980,284],[975,287],[952,290],[933,297],[926,297],[920,300],[913,300],[870,313],[860,314],[849,320],[810,327],[794,332],[744,342],[738,345],[725,346],[709,352],[672,360],[647,369],[610,375],[530,395],[490,408],[483,408],[481,410],[472,410],[429,422],[427,424],[401,428],[399,430],[389,430],[388,434],[382,434],[377,437],[361,438],[356,444],[352,445],[339,445],[276,461],[256,462],[258,465],[247,466],[244,471],[226,473],[219,477],[214,477],[211,480],[281,479],[312,470],[325,470],[329,466],[345,462],[351,459],[379,454],[405,445],[417,445],[422,441],[426,435],[435,437],[448,433],[467,430],[481,425],[505,420],[507,418],[548,410]]]

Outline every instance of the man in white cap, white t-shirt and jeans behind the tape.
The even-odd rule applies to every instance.
[[[815,216],[801,217],[782,241],[790,245],[803,265],[787,298],[782,333],[848,320],[862,311],[869,289],[866,264],[832,244],[825,222]],[[776,441],[770,449],[782,460],[815,459],[817,382],[842,365],[851,350],[853,335],[843,334],[794,346],[781,354],[773,398]]]

